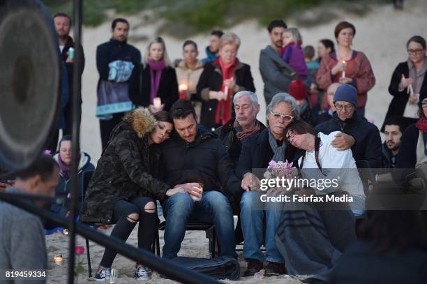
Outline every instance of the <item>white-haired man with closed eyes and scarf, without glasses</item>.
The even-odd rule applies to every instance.
[[[223,141],[235,167],[239,160],[241,143],[248,137],[260,133],[265,126],[257,120],[257,114],[260,112],[257,94],[252,91],[239,91],[234,95],[233,105],[236,117],[217,128],[215,133]]]

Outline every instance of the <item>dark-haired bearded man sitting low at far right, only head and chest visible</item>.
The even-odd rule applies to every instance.
[[[384,122],[384,126],[385,141],[382,144],[382,153],[385,159],[383,159],[382,167],[394,168],[396,167],[396,158],[402,143],[400,138],[405,128],[403,128],[403,124],[398,117],[390,117]]]

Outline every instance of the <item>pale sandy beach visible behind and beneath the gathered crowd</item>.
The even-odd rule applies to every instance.
[[[388,92],[391,73],[396,65],[407,60],[406,41],[411,36],[418,34],[427,37],[427,4],[422,0],[405,1],[405,10],[394,10],[391,4],[387,6],[374,6],[367,15],[358,17],[357,15],[342,15],[340,19],[334,20],[329,24],[322,24],[317,27],[300,29],[303,36],[304,45],[316,46],[321,38],[334,38],[334,27],[340,20],[352,22],[357,29],[354,38],[354,50],[362,51],[366,54],[373,67],[376,77],[375,87],[368,92],[368,103],[366,107],[366,117],[373,120],[375,125],[382,125],[387,107],[391,100]],[[138,38],[151,38],[155,36],[155,24],[140,26],[140,20],[136,16],[128,17],[130,20],[130,36]],[[286,21],[288,26],[292,27],[292,22]],[[132,29],[132,27],[137,29]],[[262,94],[263,84],[258,70],[258,59],[260,50],[269,44],[267,29],[260,27],[255,20],[244,22],[229,29],[234,31],[241,38],[241,47],[238,57],[244,63],[248,63],[255,80],[258,98],[261,102],[261,111],[259,119],[265,121],[265,103]],[[86,55],[86,66],[82,78],[82,96],[83,96],[83,114],[81,128],[81,149],[86,151],[92,158],[93,163],[101,154],[100,133],[98,119],[95,117],[96,110],[96,84],[98,82],[98,71],[96,70],[96,46],[110,38],[110,22],[105,22],[96,28],[84,28],[83,46]],[[200,58],[204,57],[204,47],[208,44],[209,36],[199,34],[192,37],[199,45]],[[181,57],[181,45],[183,40],[177,40],[165,36],[167,52],[172,60]],[[132,41],[144,54],[147,41]],[[104,230],[110,234],[110,230]],[[64,262],[68,259],[68,236],[63,234],[53,234],[46,237],[47,250],[49,253],[49,279],[48,283],[66,282],[66,264],[59,266],[54,264],[53,257],[61,253]],[[128,244],[137,245],[137,228],[133,231]],[[77,237],[77,245],[84,246],[84,239]],[[160,232],[160,246],[163,246],[163,232]],[[95,272],[104,248],[91,243],[91,258],[93,272]],[[179,255],[193,257],[209,257],[208,241],[205,239],[204,232],[187,232],[186,238],[181,246]],[[91,282],[87,278],[87,260],[86,255],[82,255],[84,274],[78,278],[78,283]],[[246,269],[241,252],[239,252],[239,261],[241,262],[241,274]],[[119,255],[113,264],[114,268],[119,269],[119,283],[135,283],[133,274],[135,272],[132,261]],[[241,278],[240,281],[227,281],[229,283],[301,283],[290,276],[272,277],[264,279],[255,279],[253,277]],[[153,274],[151,281],[147,283],[174,283],[170,280],[160,278],[158,274]]]

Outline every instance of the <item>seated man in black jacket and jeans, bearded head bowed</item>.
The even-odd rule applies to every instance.
[[[186,193],[177,193],[163,202],[166,218],[163,257],[177,256],[187,222],[195,219],[215,225],[220,256],[237,258],[232,209],[220,192],[223,189],[235,195],[241,190],[230,156],[210,130],[197,125],[194,107],[188,100],[178,100],[170,112],[175,131],[170,140],[160,144],[163,181],[185,188]],[[197,182],[204,184],[202,194]]]

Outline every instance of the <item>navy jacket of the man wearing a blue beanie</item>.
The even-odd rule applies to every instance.
[[[364,117],[357,116],[341,121],[334,112],[329,121],[315,127],[316,133],[330,134],[334,131],[351,135],[356,144],[352,147],[354,160],[367,160],[371,168],[381,167],[382,143],[377,126],[368,122]]]

